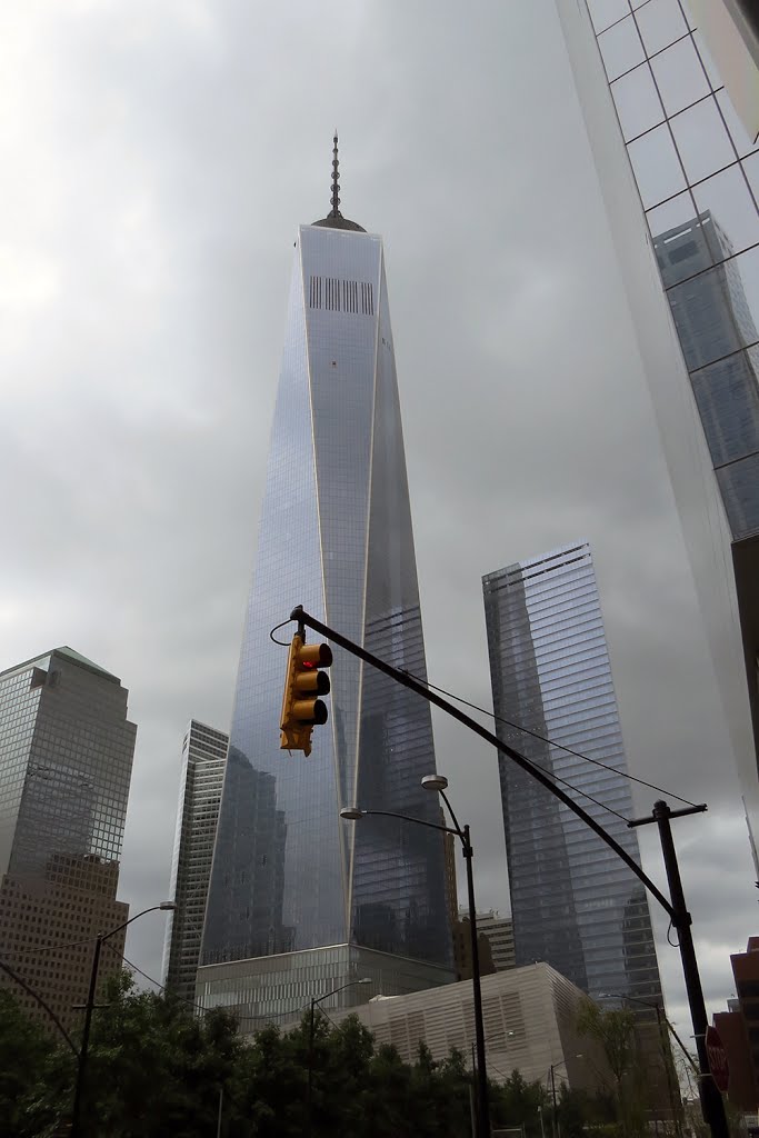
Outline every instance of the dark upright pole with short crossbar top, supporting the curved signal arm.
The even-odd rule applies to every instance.
[[[693,946],[692,924],[693,917],[685,904],[680,871],[677,864],[677,850],[673,838],[673,818],[682,818],[687,814],[703,814],[706,806],[691,806],[682,810],[670,810],[667,802],[659,800],[653,805],[653,814],[650,818],[636,818],[628,822],[628,826],[645,826],[651,823],[659,828],[659,840],[661,841],[661,852],[667,873],[667,884],[673,907],[673,926],[677,931],[677,942],[683,962],[683,976],[685,979],[685,991],[691,1008],[693,1030],[695,1032],[695,1048],[699,1056],[699,1097],[701,1098],[701,1112],[703,1121],[711,1128],[712,1138],[729,1138],[727,1116],[725,1114],[725,1103],[720,1091],[717,1089],[715,1080],[709,1070],[709,1056],[707,1055],[707,1028],[709,1020],[707,1016],[707,1005],[703,999],[701,976],[699,975],[699,963],[695,957]]]

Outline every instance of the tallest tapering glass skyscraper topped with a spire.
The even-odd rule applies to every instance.
[[[382,241],[338,208],[337,140],[333,172],[330,214],[295,242],[198,973],[198,999],[247,1024],[357,978],[405,992],[453,976],[439,834],[339,818],[360,802],[438,822],[427,703],[336,649],[311,756],[279,749],[287,653],[269,633],[295,604],[426,675]]]

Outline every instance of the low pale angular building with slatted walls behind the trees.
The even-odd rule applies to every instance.
[[[556,1091],[562,1083],[594,1094],[611,1080],[600,1045],[577,1031],[586,999],[575,984],[547,964],[530,964],[482,976],[482,1017],[487,1041],[487,1073],[503,1082],[517,1070],[528,1081],[551,1091],[551,1069]],[[327,1004],[339,1022],[348,1012]],[[391,1044],[405,1063],[414,1063],[420,1042],[434,1059],[448,1057],[452,1047],[467,1061],[475,1044],[472,982],[463,980],[409,996],[373,997],[355,1008],[376,1045]],[[546,1120],[547,1123],[547,1120]]]

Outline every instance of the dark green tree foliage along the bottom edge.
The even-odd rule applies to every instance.
[[[75,1041],[77,1041],[75,1039]],[[0,1133],[57,1138],[71,1119],[76,1059],[0,991]],[[310,1078],[311,1072],[311,1078]],[[112,981],[93,1015],[82,1099],[85,1138],[460,1138],[470,1133],[472,1077],[452,1050],[413,1063],[376,1045],[356,1016],[335,1026],[316,1013],[289,1031],[244,1039],[223,1009],[197,1017],[171,995]],[[563,1138],[581,1138],[587,1103],[562,1091]],[[494,1128],[541,1138],[550,1118],[539,1082],[519,1071],[490,1085]],[[583,1113],[585,1111],[585,1113]],[[596,1111],[597,1114],[597,1111]]]

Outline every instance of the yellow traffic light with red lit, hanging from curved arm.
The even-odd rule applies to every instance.
[[[295,634],[284,677],[281,750],[311,754],[311,732],[328,719],[327,706],[319,696],[330,690],[329,676],[322,669],[331,663],[329,644],[306,644],[299,633]]]

